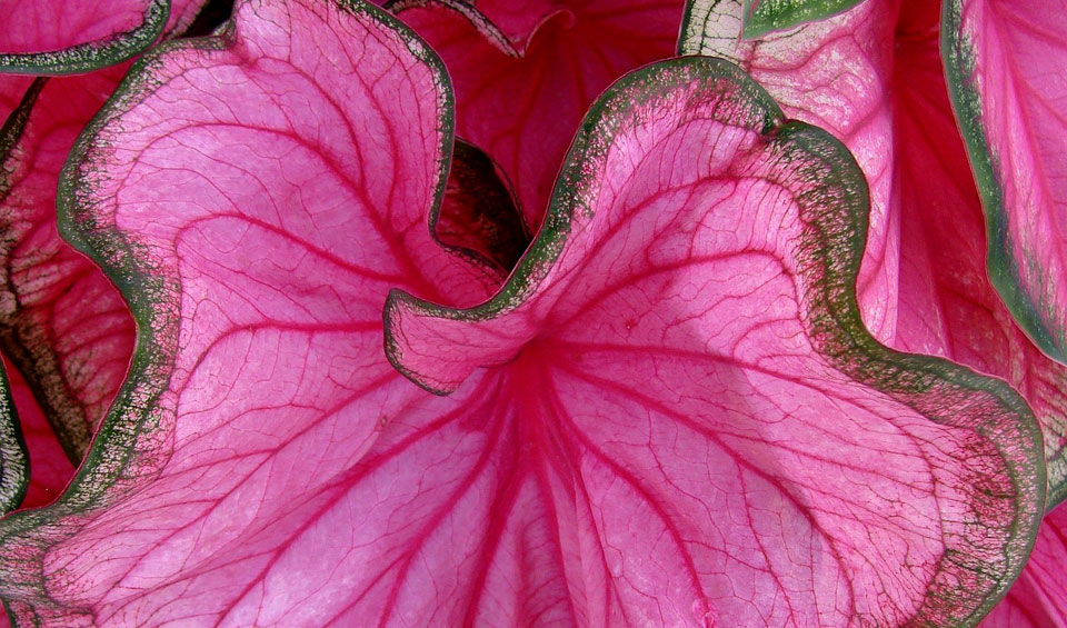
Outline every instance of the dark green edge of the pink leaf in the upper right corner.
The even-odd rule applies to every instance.
[[[981,94],[971,79],[975,71],[975,47],[963,32],[963,0],[941,2],[941,61],[948,83],[949,100],[956,113],[975,182],[986,215],[986,268],[993,287],[1000,295],[1008,311],[1019,328],[1049,358],[1067,365],[1067,352],[1061,346],[1067,338],[1065,330],[1049,329],[1040,315],[1040,306],[1030,300],[1021,288],[1019,260],[1008,242],[1008,218],[1004,206],[1004,188],[1000,167],[990,149],[989,138],[983,124]],[[1067,497],[1067,487],[1059,491],[1059,499]]]

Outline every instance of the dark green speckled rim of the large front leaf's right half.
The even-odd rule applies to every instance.
[[[540,287],[566,247],[576,222],[591,219],[589,200],[597,189],[598,163],[619,128],[644,102],[667,90],[699,82],[706,90],[727,93],[731,108],[728,122],[746,126],[766,138],[784,170],[782,180],[769,178],[787,190],[786,179],[799,177],[811,183],[791,190],[805,229],[797,247],[800,272],[811,282],[805,300],[804,320],[812,346],[837,369],[864,386],[913,408],[931,421],[969,429],[996,448],[1011,482],[1016,515],[1008,526],[1009,541],[1003,555],[990,557],[971,548],[969,535],[945,538],[946,552],[937,578],[929,586],[923,607],[909,624],[973,626],[1004,597],[1033,548],[1045,504],[1045,466],[1041,432],[1026,401],[1004,381],[976,373],[940,358],[908,355],[880,345],[860,319],[856,278],[867,237],[869,198],[859,166],[844,144],[826,131],[785,114],[755,80],[740,68],[711,57],[685,57],[647,66],[608,88],[586,114],[559,179],[541,231],[519,261],[507,283],[489,301],[469,309],[430,303],[401,290],[390,292],[385,308],[386,352],[409,379],[438,395],[426,378],[402,363],[402,347],[392,327],[402,310],[415,316],[458,321],[486,321],[517,309]],[[725,98],[726,100],[726,98]],[[742,118],[738,122],[738,118]],[[947,406],[947,408],[946,408]],[[1003,487],[980,469],[974,475],[976,494],[1004,498]],[[987,505],[971,494],[974,510],[968,529],[981,538],[984,526],[977,509]],[[968,554],[968,548],[971,551]],[[980,548],[979,548],[980,549]],[[983,587],[960,587],[954,574],[983,579]]]

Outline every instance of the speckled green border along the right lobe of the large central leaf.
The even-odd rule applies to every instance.
[[[869,211],[867,182],[862,171],[840,141],[818,127],[787,120],[770,94],[728,60],[699,56],[670,59],[635,70],[605,90],[586,113],[564,160],[540,232],[500,291],[485,303],[463,309],[439,306],[393,289],[383,311],[386,355],[398,371],[421,388],[436,395],[448,395],[450,390],[437,389],[426,381],[420,381],[418,373],[400,363],[399,347],[392,330],[399,309],[411,309],[419,316],[448,320],[483,321],[506,315],[532,295],[562,251],[576,212],[591,211],[579,200],[584,168],[597,159],[599,151],[609,146],[615,117],[619,110],[625,112],[627,106],[636,100],[634,88],[661,88],[670,82],[670,78],[665,79],[662,74],[686,71],[697,77],[731,80],[739,93],[762,109],[764,128],[760,132],[767,136],[768,142],[781,147],[784,154],[790,154],[790,151],[797,151],[801,156],[814,154],[832,167],[831,177],[821,179],[821,188],[824,191],[836,188],[842,192],[836,198],[839,207],[831,203],[819,213],[818,209],[804,208],[801,203],[801,218],[807,226],[802,250],[808,252],[807,258],[801,260],[801,266],[821,269],[820,273],[812,273],[818,277],[818,281],[812,288],[816,296],[811,300],[818,302],[818,309],[822,311],[812,320],[805,321],[806,327],[809,327],[812,345],[841,372],[865,386],[881,390],[931,421],[947,425],[975,422],[954,420],[953,416],[937,416],[938,400],[946,398],[943,392],[946,389],[956,397],[964,395],[984,398],[985,403],[991,402],[1000,410],[997,416],[1007,413],[1017,419],[1013,422],[1005,421],[1004,426],[998,426],[995,421],[974,425],[975,431],[998,446],[998,452],[1009,469],[1013,486],[1020,496],[1016,519],[1010,527],[1014,542],[1009,542],[1005,548],[1007,565],[1003,577],[996,579],[997,586],[986,592],[981,604],[969,609],[970,612],[966,616],[954,618],[959,626],[976,626],[1007,594],[1023,570],[1037,538],[1046,489],[1040,427],[1026,401],[1005,381],[983,376],[943,358],[896,351],[879,343],[870,335],[860,318],[855,290],[866,246]],[[605,136],[608,136],[608,140]],[[798,198],[798,201],[802,199]],[[810,216],[812,211],[816,212],[815,216]],[[838,216],[834,216],[834,212]],[[836,245],[825,230],[827,226],[837,227],[844,233]],[[1006,436],[1001,436],[1005,431]],[[1016,460],[1010,455],[1013,449],[1000,447],[1004,440],[1017,446],[1014,450],[1020,452],[1018,457],[1021,460]],[[948,559],[948,554],[949,551],[946,551],[943,560]],[[959,568],[969,567],[961,565]],[[990,566],[984,565],[981,569],[988,571]],[[910,622],[933,625],[935,619],[930,615],[936,618],[937,609],[931,605],[944,601],[936,599],[928,590],[923,606]]]

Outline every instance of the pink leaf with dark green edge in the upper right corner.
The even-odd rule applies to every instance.
[[[1067,363],[1064,0],[945,0],[941,51],[988,232],[994,286]]]

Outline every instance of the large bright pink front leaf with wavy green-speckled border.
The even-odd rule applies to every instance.
[[[1038,524],[1040,435],[864,330],[847,151],[696,58],[580,128],[486,301],[499,275],[429,229],[450,92],[398,22],[246,0],[139,62],[60,195],[138,348],[69,489],[0,522],[19,621],[976,620]]]

